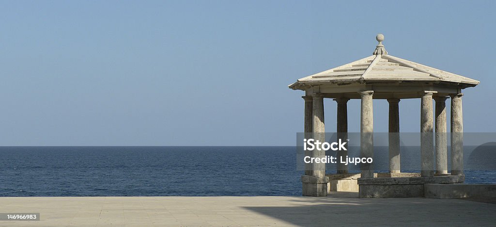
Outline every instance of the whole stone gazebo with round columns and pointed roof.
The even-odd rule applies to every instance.
[[[303,77],[289,85],[294,90],[305,91],[303,98],[306,135],[313,133],[310,137],[322,139],[321,133],[325,132],[323,99],[332,98],[337,102],[338,137],[346,137],[347,102],[350,99],[361,99],[361,157],[373,157],[372,99],[386,99],[389,102],[389,174],[382,174],[381,177],[381,174],[374,174],[373,163],[362,165],[361,175],[358,178],[360,197],[422,197],[426,183],[463,182],[461,91],[476,86],[479,81],[388,55],[382,45],[384,36],[378,34],[376,39],[379,44],[372,56]],[[445,111],[445,101],[448,97],[451,98],[450,173],[447,167]],[[421,98],[420,174],[402,174],[400,171],[398,104],[405,98]],[[312,151],[310,155],[324,157],[325,151]],[[337,160],[340,160],[339,156],[346,156],[347,153],[340,151],[337,155]],[[325,164],[305,165],[305,175],[302,176],[305,196],[326,196],[330,189],[329,177],[348,173],[348,166],[344,164],[337,164],[337,173],[331,175],[325,175]]]

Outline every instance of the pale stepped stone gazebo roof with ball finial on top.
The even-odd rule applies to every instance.
[[[372,56],[324,72],[298,79],[290,84],[292,89],[308,90],[318,85],[343,86],[360,84],[437,84],[459,89],[473,87],[479,81],[448,73],[419,63],[387,54],[382,45],[384,36],[376,37],[377,45]],[[329,93],[329,92],[328,92]]]

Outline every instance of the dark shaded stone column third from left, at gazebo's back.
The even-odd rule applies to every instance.
[[[336,132],[337,132],[337,139],[341,139],[341,141],[346,142],[348,139],[348,100],[349,98],[336,98],[334,101],[338,103],[338,108],[337,108],[337,124],[336,124]],[[348,150],[348,143],[344,146],[346,150]],[[345,165],[345,163],[341,163],[339,160],[341,160],[341,157],[343,157],[343,160],[346,158],[346,155],[348,155],[348,151],[337,151],[337,173],[348,173],[348,165]]]

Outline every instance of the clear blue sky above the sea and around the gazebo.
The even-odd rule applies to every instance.
[[[495,1],[1,1],[0,145],[295,145],[297,78],[390,55],[481,81],[464,130],[495,132]],[[359,100],[349,102],[359,132]],[[387,102],[374,101],[387,132]],[[336,104],[325,101],[326,130]],[[448,112],[449,113],[449,112]],[[448,120],[449,121],[449,120]],[[400,102],[419,132],[420,100]]]

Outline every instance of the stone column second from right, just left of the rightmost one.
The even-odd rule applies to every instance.
[[[435,173],[448,173],[448,148],[446,137],[446,98],[434,97],[435,100]]]

